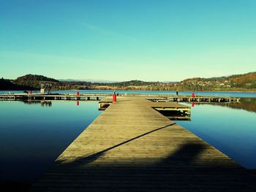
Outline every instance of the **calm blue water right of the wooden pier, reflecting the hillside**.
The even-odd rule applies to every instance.
[[[191,121],[177,123],[247,169],[256,168],[256,99],[238,104],[195,104]]]

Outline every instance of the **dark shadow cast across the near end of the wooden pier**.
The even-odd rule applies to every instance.
[[[236,163],[230,164],[229,159],[200,161],[198,155],[204,155],[208,145],[196,141],[184,143],[165,158],[124,155],[113,159],[107,155],[166,127],[69,163],[57,161],[32,191],[255,191],[255,177]]]

